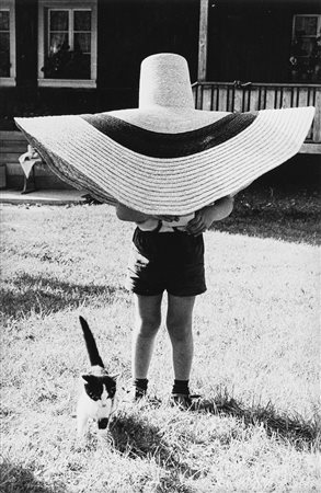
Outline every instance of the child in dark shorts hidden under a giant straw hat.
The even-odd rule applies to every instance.
[[[195,110],[186,60],[158,54],[141,65],[138,108],[15,118],[62,180],[138,223],[128,277],[136,298],[137,397],[146,391],[168,290],[173,395],[190,405],[192,313],[195,296],[206,289],[202,233],[231,213],[239,190],[299,151],[313,115],[313,107]]]

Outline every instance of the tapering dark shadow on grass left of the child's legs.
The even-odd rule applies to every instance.
[[[95,286],[61,282],[43,275],[22,274],[0,290],[4,317],[25,317],[31,312],[47,314],[65,308],[77,308],[91,299],[95,305],[111,303],[119,286]]]

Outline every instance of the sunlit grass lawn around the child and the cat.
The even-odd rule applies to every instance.
[[[91,424],[83,445],[73,417],[88,368],[78,316],[125,393],[133,226],[105,205],[3,206],[0,491],[320,491],[318,215],[313,194],[240,195],[205,236],[192,375],[200,409],[168,404],[162,328],[150,370],[157,399],[121,401],[110,432]]]

